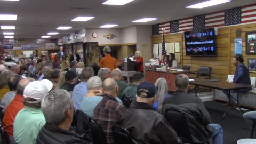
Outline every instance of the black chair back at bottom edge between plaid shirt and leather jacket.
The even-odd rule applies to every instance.
[[[138,144],[138,142],[131,137],[130,132],[120,125],[113,125],[112,132],[115,144]]]

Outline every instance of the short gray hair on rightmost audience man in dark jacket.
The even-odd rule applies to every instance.
[[[189,84],[189,78],[187,75],[179,74],[175,76],[175,87],[177,90],[185,90]]]

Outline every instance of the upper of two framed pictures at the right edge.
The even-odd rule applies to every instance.
[[[245,33],[246,54],[256,54],[256,31]]]

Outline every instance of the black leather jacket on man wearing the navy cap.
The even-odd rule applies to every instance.
[[[181,142],[164,116],[147,103],[132,102],[118,124],[125,127],[140,144]]]

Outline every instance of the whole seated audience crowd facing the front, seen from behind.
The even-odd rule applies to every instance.
[[[22,63],[0,65],[0,107],[5,110],[2,123],[9,143],[93,143],[93,130],[77,132],[77,127],[91,126],[89,122],[76,123],[76,111],[94,119],[109,144],[115,143],[116,125],[129,131],[138,143],[182,143],[165,118],[166,108],[198,117],[188,122],[193,142],[212,139],[214,144],[223,143],[221,126],[211,123],[201,99],[187,93],[186,75],[175,77],[177,91],[170,95],[164,78],[153,84],[137,72],[129,86],[121,81],[120,69],[101,68],[95,74],[92,67],[77,61],[71,61],[70,67],[63,64],[65,68],[54,68],[53,64],[33,59],[30,65],[25,62],[28,73],[22,74]],[[128,104],[123,104],[125,99]]]

